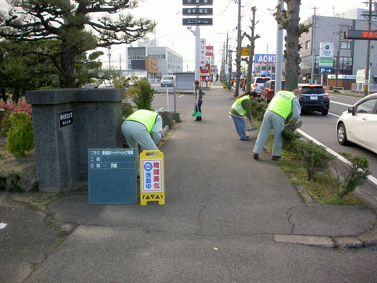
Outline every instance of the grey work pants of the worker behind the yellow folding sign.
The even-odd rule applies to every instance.
[[[121,129],[122,134],[126,138],[129,148],[136,149],[138,175],[140,175],[138,144],[141,146],[143,150],[158,150],[158,148],[153,142],[150,134],[148,134],[147,128],[142,123],[132,120],[126,120],[123,122]]]

